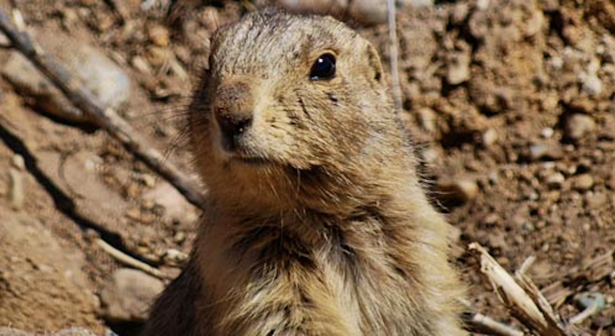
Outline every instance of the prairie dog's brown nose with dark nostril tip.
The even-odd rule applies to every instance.
[[[253,108],[252,92],[244,82],[227,82],[218,87],[213,113],[226,145],[234,147],[237,138],[252,126]]]

